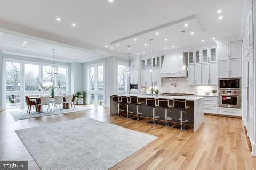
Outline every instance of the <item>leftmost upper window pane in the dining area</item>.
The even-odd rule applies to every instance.
[[[20,91],[20,63],[6,62],[6,91]]]

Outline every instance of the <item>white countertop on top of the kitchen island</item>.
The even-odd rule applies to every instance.
[[[137,96],[138,98],[146,98],[146,97],[153,97],[153,98],[164,98],[164,99],[170,99],[173,100],[175,99],[186,99],[188,101],[195,101],[198,99],[202,99],[204,97],[200,96],[155,96],[155,95],[142,95],[142,94],[123,94],[119,96]]]

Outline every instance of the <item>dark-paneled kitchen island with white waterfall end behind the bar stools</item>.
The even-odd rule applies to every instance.
[[[151,108],[146,105],[146,97],[154,97],[154,98],[167,98],[170,100],[170,105],[173,105],[173,99],[186,99],[187,106],[189,108],[187,109],[187,114],[183,113],[183,119],[188,120],[188,122],[185,122],[184,124],[187,125],[193,125],[194,132],[201,126],[204,122],[204,97],[199,96],[156,96],[156,95],[140,95],[140,94],[125,94],[120,96],[138,96],[140,102],[144,102],[140,105],[138,108],[138,112],[141,112],[143,117],[151,117]],[[126,105],[121,104],[120,109],[123,109],[126,111]],[[129,105],[129,111],[133,112],[134,115],[136,115],[136,106],[135,105]],[[170,109],[171,112],[167,113],[167,117],[172,117],[173,119],[171,122],[180,123],[180,111],[175,108]],[[112,96],[110,96],[110,115],[116,114],[118,112],[118,103],[114,102],[112,100]],[[161,107],[157,107],[155,109],[155,115],[160,116],[160,118],[157,118],[156,120],[165,120],[165,111]]]

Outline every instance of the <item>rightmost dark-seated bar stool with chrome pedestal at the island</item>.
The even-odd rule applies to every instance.
[[[174,126],[174,128],[185,130],[185,131],[188,130],[189,127],[182,125],[183,122],[188,122],[188,120],[183,120],[183,112],[188,114],[185,111],[189,108],[189,106],[187,106],[186,99],[173,99],[173,106],[174,108],[180,110],[180,119],[179,119],[180,125]]]

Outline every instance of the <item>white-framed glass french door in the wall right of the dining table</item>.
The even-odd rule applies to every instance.
[[[87,66],[87,104],[105,105],[105,71],[104,63]]]

